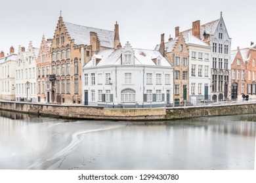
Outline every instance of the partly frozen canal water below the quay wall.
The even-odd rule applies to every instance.
[[[0,111],[0,169],[253,169],[256,114],[170,122]]]

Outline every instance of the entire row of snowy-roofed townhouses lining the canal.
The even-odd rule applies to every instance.
[[[162,34],[154,50],[132,48],[129,42],[122,47],[117,23],[109,31],[64,22],[60,16],[53,38],[43,36],[39,48],[30,42],[27,51],[20,46],[18,54],[13,48],[6,57],[1,52],[0,96],[120,108],[195,105],[255,94],[255,66],[248,61],[255,60],[255,48],[247,49],[250,54],[232,52],[231,58],[230,48],[222,13],[207,24],[192,22],[186,31],[175,27],[175,38],[167,42]],[[235,64],[232,69],[239,56],[241,68]]]

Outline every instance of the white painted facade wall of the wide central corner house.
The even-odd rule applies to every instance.
[[[85,73],[88,73],[89,75],[88,86],[85,86]],[[95,73],[95,86],[91,85],[91,73]],[[102,84],[98,84],[99,73],[102,73],[103,76]],[[112,84],[106,84],[106,73],[110,73]],[[125,73],[131,73],[131,84],[125,84]],[[152,84],[146,84],[146,73],[152,73]],[[156,73],[161,74],[161,84],[156,84]],[[165,84],[165,74],[171,75],[170,84]],[[170,90],[171,92],[169,97],[169,103],[173,103],[173,68],[146,65],[108,65],[83,69],[83,91],[89,91],[89,105],[106,104],[98,102],[98,90],[102,90],[103,93],[106,93],[106,90],[110,90],[113,94],[114,105],[121,104],[123,103],[121,102],[121,91],[126,88],[135,90],[136,99],[135,102],[125,102],[124,105],[135,105],[135,103],[137,103],[138,105],[156,105],[166,103],[167,90]],[[96,92],[95,102],[91,102],[91,90],[95,90]],[[146,90],[152,90],[152,93],[156,93],[156,90],[161,90],[161,93],[165,95],[165,101],[143,102],[143,93],[146,93]],[[85,98],[83,92],[83,103],[84,100]]]

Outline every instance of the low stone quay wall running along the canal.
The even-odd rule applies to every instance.
[[[178,120],[202,116],[225,116],[256,112],[256,103],[185,108],[104,108],[0,101],[0,110],[55,118],[91,120]]]

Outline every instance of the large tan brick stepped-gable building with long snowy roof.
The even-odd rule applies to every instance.
[[[93,54],[110,48],[114,31],[71,24],[60,16],[51,42],[51,103],[81,104],[82,67]]]

